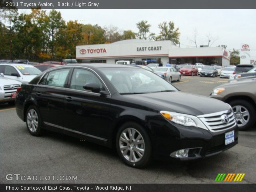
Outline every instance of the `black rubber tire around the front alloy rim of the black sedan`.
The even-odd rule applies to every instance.
[[[121,149],[120,149],[120,136],[124,131],[126,131],[129,128],[132,128],[132,129],[136,130],[137,132],[139,132],[142,136],[142,140],[144,140],[144,154],[143,154],[142,158],[137,162],[131,162],[131,161],[127,160],[126,157],[124,157],[124,155],[122,154]],[[128,146],[128,144],[127,144],[127,146]],[[116,134],[116,150],[117,150],[119,157],[123,160],[123,162],[125,164],[127,164],[128,166],[131,166],[134,168],[145,167],[151,161],[152,150],[151,150],[151,142],[150,142],[148,133],[142,126],[140,126],[139,124],[137,124],[135,122],[126,122],[126,123],[122,124],[122,126],[119,128],[119,130]],[[129,149],[129,154],[130,154],[130,149]]]

